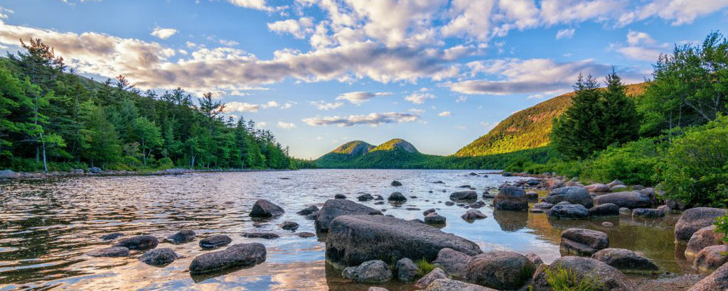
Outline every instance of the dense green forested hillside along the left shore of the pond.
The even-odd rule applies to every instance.
[[[253,120],[223,118],[212,93],[141,92],[125,76],[78,76],[40,39],[0,59],[0,167],[19,171],[293,168]],[[133,76],[130,76],[133,78]]]

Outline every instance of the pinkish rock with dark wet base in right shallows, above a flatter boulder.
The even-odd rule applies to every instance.
[[[561,251],[567,254],[590,256],[609,247],[609,236],[601,231],[569,228],[561,232]]]

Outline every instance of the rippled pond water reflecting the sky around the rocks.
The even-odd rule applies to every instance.
[[[603,220],[549,220],[545,214],[480,209],[488,218],[468,223],[462,207],[446,206],[449,194],[470,185],[482,192],[518,177],[467,175],[466,170],[298,170],[289,172],[215,172],[178,176],[62,178],[0,184],[0,290],[366,290],[368,286],[342,279],[341,271],[325,263],[323,239],[301,238],[280,223],[296,221],[298,231],[314,232],[313,220],[296,215],[309,204],[319,207],[335,194],[356,201],[359,192],[385,199],[393,191],[408,198],[402,205],[375,205],[397,218],[423,218],[422,211],[438,209],[447,218],[442,228],[480,245],[481,250],[535,252],[545,263],[561,254],[559,235],[580,227],[609,234],[610,246],[643,252],[662,271],[684,273],[689,263],[673,243],[676,215],[633,220],[629,216]],[[486,172],[476,170],[475,172]],[[392,187],[400,180],[401,187]],[[433,181],[442,180],[444,184]],[[432,191],[432,193],[430,193]],[[444,192],[443,192],[444,191]],[[493,192],[493,191],[491,191]],[[544,195],[545,193],[542,193]],[[285,209],[269,220],[248,216],[257,199],[268,199]],[[490,204],[489,199],[486,200]],[[407,210],[419,208],[419,210]],[[602,222],[614,223],[606,228]],[[195,242],[169,244],[162,238],[192,229]],[[270,231],[280,239],[247,239],[245,231]],[[159,237],[158,247],[170,247],[182,258],[165,267],[147,266],[128,258],[91,258],[86,252],[108,247],[103,234]],[[227,234],[232,244],[261,242],[266,261],[253,268],[191,276],[187,268],[203,251],[199,238]],[[392,283],[389,290],[413,290],[411,284]]]

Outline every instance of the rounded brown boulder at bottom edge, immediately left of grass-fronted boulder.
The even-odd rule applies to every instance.
[[[517,290],[531,279],[535,270],[534,263],[517,252],[483,252],[467,262],[465,279],[497,290]]]

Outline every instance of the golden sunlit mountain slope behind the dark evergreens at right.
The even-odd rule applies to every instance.
[[[636,97],[645,88],[646,83],[630,84],[625,91],[628,96]],[[460,148],[455,156],[504,154],[547,146],[553,119],[569,108],[573,96],[574,92],[569,92],[513,113],[488,134]]]

